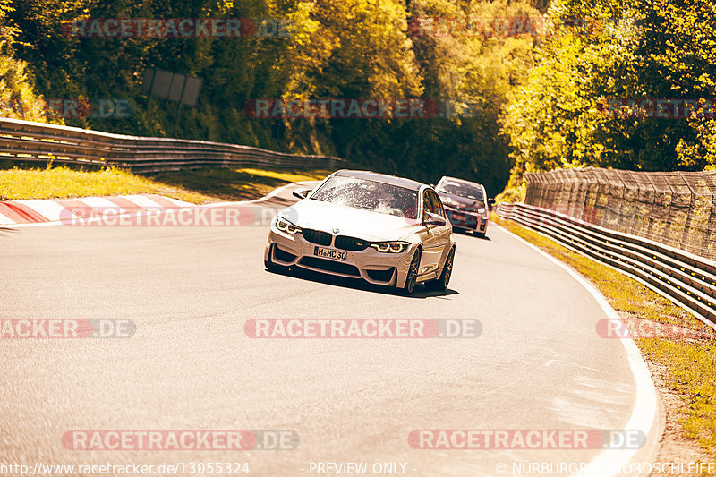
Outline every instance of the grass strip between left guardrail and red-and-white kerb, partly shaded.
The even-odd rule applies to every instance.
[[[319,180],[331,171],[204,168],[135,175],[107,167],[87,171],[67,166],[0,169],[0,200],[158,193],[196,204],[251,200],[296,181]]]

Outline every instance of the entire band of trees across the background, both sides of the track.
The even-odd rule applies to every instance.
[[[64,122],[156,136],[172,135],[176,123],[179,137],[334,154],[426,182],[457,175],[485,183],[490,195],[511,177],[513,199],[523,193],[524,172],[533,170],[716,167],[711,118],[601,113],[609,98],[716,97],[716,9],[709,0],[547,6],[536,0],[0,0],[2,114],[41,120],[41,98],[124,99],[127,117]],[[408,28],[430,18],[471,25],[540,15],[546,24],[536,37],[415,35]],[[62,30],[64,21],[116,17],[290,23],[287,38],[75,38]],[[586,26],[566,27],[570,18]],[[200,105],[178,110],[142,97],[147,67],[200,77]],[[442,115],[253,119],[244,111],[252,98],[422,98],[441,105]]]

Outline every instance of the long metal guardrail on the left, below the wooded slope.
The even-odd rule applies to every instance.
[[[202,166],[340,168],[351,163],[330,156],[301,156],[210,141],[126,136],[0,118],[0,159],[121,166],[158,172]]]

